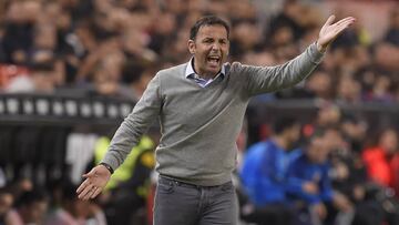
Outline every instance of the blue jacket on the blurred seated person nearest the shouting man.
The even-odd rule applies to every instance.
[[[285,203],[287,154],[273,141],[249,147],[241,171],[241,178],[252,203],[264,206]]]

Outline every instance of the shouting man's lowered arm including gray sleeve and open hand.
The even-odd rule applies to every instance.
[[[116,170],[123,163],[132,147],[139,143],[140,137],[156,119],[162,101],[158,79],[156,75],[150,82],[133,112],[117,129],[100,165],[83,175],[85,180],[76,190],[79,198],[94,198],[101,193],[111,177],[111,171]]]

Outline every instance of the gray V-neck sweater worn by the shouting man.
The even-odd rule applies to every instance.
[[[283,65],[226,63],[225,76],[205,88],[185,78],[187,63],[162,70],[117,129],[103,162],[115,170],[158,119],[160,174],[204,186],[226,183],[235,168],[236,137],[249,98],[293,86],[311,73],[321,57],[314,43]]]

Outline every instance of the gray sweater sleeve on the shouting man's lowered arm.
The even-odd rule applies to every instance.
[[[139,143],[140,137],[160,115],[161,106],[161,81],[157,74],[150,81],[133,112],[125,117],[116,130],[102,162],[116,170],[126,158],[132,147]]]

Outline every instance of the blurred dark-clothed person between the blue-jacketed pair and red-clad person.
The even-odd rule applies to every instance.
[[[329,174],[332,187],[354,204],[352,225],[381,224],[385,219],[385,212],[378,197],[370,192],[360,150],[352,149],[361,147],[361,145],[350,144],[354,139],[358,142],[359,137],[365,135],[364,126],[361,121],[346,117],[341,126],[345,141],[342,140],[344,142],[340,142],[330,154],[331,170]]]

